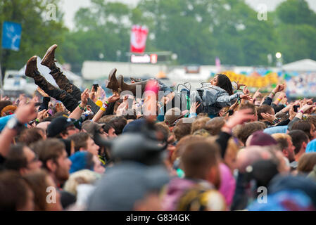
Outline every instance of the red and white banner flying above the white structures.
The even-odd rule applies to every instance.
[[[130,51],[134,53],[144,53],[146,49],[148,29],[139,25],[132,26]]]

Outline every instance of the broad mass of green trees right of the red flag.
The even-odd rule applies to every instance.
[[[143,0],[137,7],[154,21],[154,44],[177,53],[179,63],[213,64],[219,56],[225,64],[266,64],[273,48],[272,21],[259,21],[244,0]]]

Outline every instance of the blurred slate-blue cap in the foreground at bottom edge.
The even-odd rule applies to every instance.
[[[88,211],[131,211],[148,193],[159,193],[170,176],[164,166],[124,162],[106,169],[89,197]]]

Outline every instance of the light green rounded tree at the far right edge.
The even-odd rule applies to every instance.
[[[277,51],[281,51],[284,62],[291,63],[303,58],[316,60],[316,13],[305,0],[287,0],[276,10],[275,32]]]

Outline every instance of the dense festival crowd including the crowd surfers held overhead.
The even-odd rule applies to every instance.
[[[0,101],[0,210],[316,210],[316,104],[216,75],[200,89],[110,71],[81,91],[27,61],[37,98]]]

